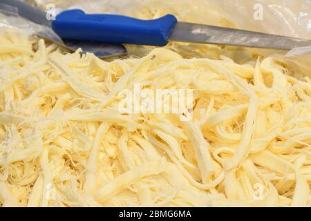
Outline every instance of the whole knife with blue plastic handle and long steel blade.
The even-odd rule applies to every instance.
[[[141,20],[123,15],[86,14],[73,9],[59,13],[50,26],[62,39],[113,44],[165,46],[169,41],[185,41],[281,50],[311,46],[308,39],[178,22],[173,15]]]

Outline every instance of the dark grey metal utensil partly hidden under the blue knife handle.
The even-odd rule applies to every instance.
[[[39,37],[53,41],[54,43],[67,48],[68,50],[75,51],[78,48],[82,48],[83,52],[92,52],[97,57],[105,58],[115,55],[125,55],[126,48],[121,44],[106,44],[102,41],[83,41],[81,39],[60,39],[53,31],[51,32],[52,21],[46,19],[46,12],[39,8],[33,7],[28,3],[23,3],[18,0],[0,0],[0,4],[9,7],[1,7],[1,10],[12,10],[12,8],[18,11],[18,15],[24,19],[28,19],[34,23],[44,26],[43,30],[37,33]]]

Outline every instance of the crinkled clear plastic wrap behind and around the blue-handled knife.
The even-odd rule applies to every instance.
[[[54,3],[57,10],[80,8],[88,13],[117,13],[141,19],[153,19],[171,13],[179,21],[205,23],[268,32],[276,35],[310,38],[311,2],[309,0],[28,0],[41,8]],[[145,55],[153,47],[126,46],[129,55]],[[206,44],[170,43],[167,48],[183,57],[219,59],[225,55],[234,61],[254,63],[254,58],[274,55],[292,67],[294,75],[311,77],[311,46],[288,53],[258,48],[220,47]]]

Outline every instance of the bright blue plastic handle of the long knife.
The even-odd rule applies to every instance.
[[[165,46],[176,23],[173,15],[141,20],[123,15],[86,14],[75,9],[57,15],[52,28],[62,39]]]

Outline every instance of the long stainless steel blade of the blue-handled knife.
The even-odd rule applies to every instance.
[[[169,36],[169,40],[255,48],[274,48],[281,50],[311,46],[311,40],[308,39],[297,39],[280,35],[270,35],[262,32],[187,22],[178,22]]]

